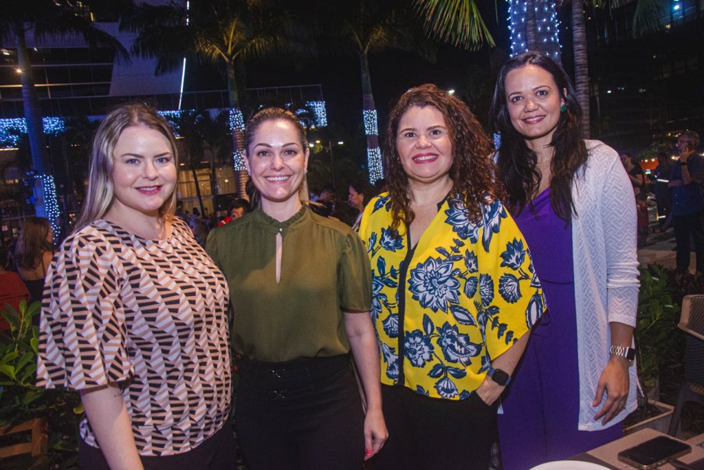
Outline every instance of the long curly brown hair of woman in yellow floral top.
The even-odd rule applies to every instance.
[[[463,194],[467,216],[470,220],[477,221],[481,215],[480,204],[503,197],[501,187],[494,181],[489,137],[464,101],[427,83],[401,95],[394,109],[391,109],[389,125],[386,126],[384,166],[386,184],[391,195],[392,227],[398,230],[401,221],[408,226],[415,218],[408,201],[408,175],[403,171],[401,156],[396,147],[398,124],[411,106],[433,106],[443,114],[452,142],[451,194]]]

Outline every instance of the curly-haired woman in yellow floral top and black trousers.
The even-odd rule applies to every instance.
[[[392,436],[375,468],[486,469],[496,400],[545,308],[541,286],[460,99],[409,89],[386,136],[389,192],[360,228]]]

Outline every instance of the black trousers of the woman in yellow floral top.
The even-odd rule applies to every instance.
[[[442,400],[389,385],[382,385],[382,399],[389,439],[372,459],[374,470],[489,468],[497,404],[476,393]]]

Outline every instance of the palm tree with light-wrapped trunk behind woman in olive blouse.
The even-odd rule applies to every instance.
[[[224,67],[232,112],[232,147],[238,187],[244,194],[244,117],[241,85],[244,62],[275,54],[302,54],[306,47],[303,22],[272,6],[270,0],[203,0],[190,9],[175,3],[141,4],[120,25],[137,32],[132,50],[156,57],[156,74],[168,73],[187,60]]]

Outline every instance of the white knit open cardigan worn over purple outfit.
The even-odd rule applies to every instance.
[[[636,365],[629,369],[626,407],[606,426],[594,421],[591,403],[609,360],[609,323],[636,325],[638,260],[636,203],[630,180],[617,152],[598,140],[586,140],[589,159],[572,185],[572,257],[577,307],[579,358],[579,423],[581,431],[597,431],[622,421],[636,409]],[[548,308],[549,308],[548,299]],[[554,358],[559,361],[559,357]]]

